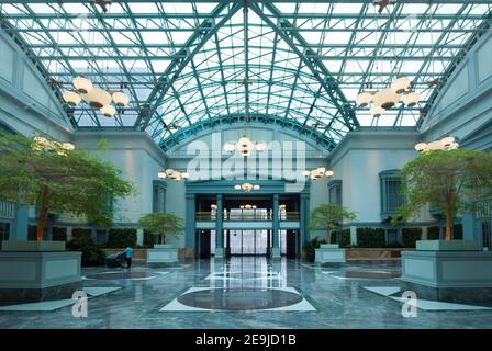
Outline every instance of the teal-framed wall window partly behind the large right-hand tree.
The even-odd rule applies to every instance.
[[[399,170],[383,171],[379,174],[381,181],[381,216],[392,216],[403,205],[401,194],[402,180]]]

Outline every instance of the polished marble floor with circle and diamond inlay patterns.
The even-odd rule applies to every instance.
[[[0,310],[0,328],[492,328],[492,310],[474,306],[424,302],[404,317],[399,273],[398,262],[320,267],[260,257],[88,268],[87,318],[75,318],[65,301]]]

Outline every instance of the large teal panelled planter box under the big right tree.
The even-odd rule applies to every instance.
[[[404,251],[401,280],[435,288],[492,287],[492,252]]]

